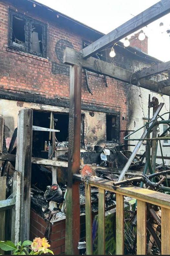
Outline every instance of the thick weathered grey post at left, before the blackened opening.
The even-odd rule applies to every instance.
[[[29,240],[32,122],[33,110],[21,109],[18,114],[16,171],[21,172],[21,211],[19,240],[22,242],[24,240]]]

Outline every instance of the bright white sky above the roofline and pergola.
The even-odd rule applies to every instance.
[[[158,0],[37,0],[37,2],[100,32],[108,33],[154,5]],[[164,24],[161,28],[160,22]],[[148,54],[162,61],[170,60],[170,34],[167,34],[167,29],[170,29],[170,13],[143,27],[144,33],[148,36]]]

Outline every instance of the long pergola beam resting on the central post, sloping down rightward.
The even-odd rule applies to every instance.
[[[75,51],[68,47],[64,50],[63,62],[72,66],[81,66],[83,68],[86,68],[87,70],[94,71],[98,74],[107,75],[123,82],[138,85],[144,89],[152,90],[156,93],[162,93],[170,96],[170,88],[163,87],[162,84],[158,82],[155,82],[153,80],[147,80],[145,78],[140,79],[140,81],[138,82],[137,79],[132,79],[133,73],[131,71],[125,70],[121,67],[115,66],[114,64],[93,57],[84,59],[81,52]]]

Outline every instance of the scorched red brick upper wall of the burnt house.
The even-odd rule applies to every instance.
[[[63,42],[71,45],[75,50],[82,49],[82,40],[90,41],[61,24],[48,23],[48,59],[39,58],[27,53],[8,48],[8,18],[9,7],[0,2],[0,88],[12,91],[22,91],[45,95],[48,97],[69,98],[69,66],[62,63]],[[24,6],[22,7],[24,8]],[[24,13],[24,9],[17,8],[18,12]],[[31,13],[26,13],[31,16]],[[66,41],[63,41],[66,40]],[[60,55],[61,54],[61,55]],[[105,86],[103,76],[89,73],[91,95],[87,91],[85,80],[82,80],[82,102],[92,103],[103,107],[109,107],[121,112],[121,130],[126,130],[128,116],[127,91],[123,83],[108,78],[108,87]],[[122,121],[122,116],[126,117]],[[121,133],[123,137],[124,134]]]

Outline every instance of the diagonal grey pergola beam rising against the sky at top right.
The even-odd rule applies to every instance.
[[[156,19],[161,18],[165,14],[170,12],[170,1],[161,0],[155,5],[144,10],[137,16],[123,23],[118,28],[114,29],[110,33],[102,36],[92,44],[83,49],[83,58],[89,58],[97,52],[105,49],[106,47],[117,43],[127,35],[143,28]]]

